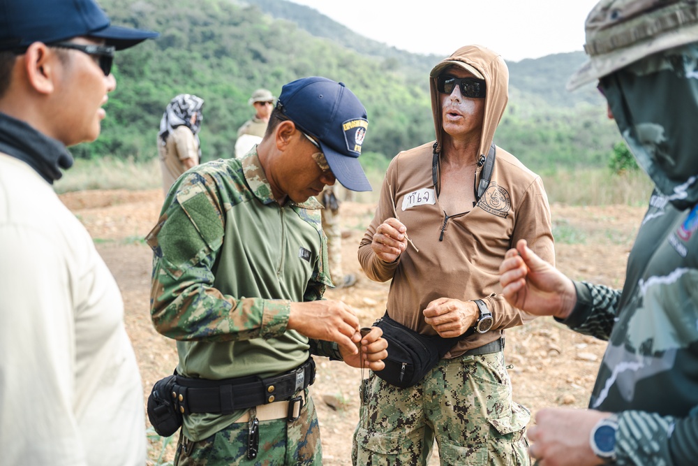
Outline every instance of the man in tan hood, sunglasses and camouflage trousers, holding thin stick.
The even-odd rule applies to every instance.
[[[373,280],[392,279],[392,319],[461,340],[415,386],[371,375],[354,464],[426,465],[436,437],[443,465],[528,465],[530,416],[512,400],[503,333],[531,316],[505,301],[497,272],[521,238],[554,261],[547,196],[540,177],[493,145],[508,101],[502,57],[467,45],[430,78],[436,141],[390,163],[359,263]]]

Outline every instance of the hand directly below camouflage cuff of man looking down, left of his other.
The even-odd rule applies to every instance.
[[[359,319],[351,307],[337,300],[291,303],[288,330],[313,340],[337,342],[342,354],[358,355],[356,343],[361,340]]]

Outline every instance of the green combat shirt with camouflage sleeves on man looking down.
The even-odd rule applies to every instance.
[[[315,198],[279,205],[256,152],[179,178],[146,238],[154,251],[151,318],[177,340],[177,372],[269,377],[309,353],[339,358],[336,344],[286,330],[290,303],[318,300],[331,284],[320,208]],[[243,412],[185,416],[184,432],[205,439]]]

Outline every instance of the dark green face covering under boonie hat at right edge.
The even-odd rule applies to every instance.
[[[679,210],[698,203],[698,42],[665,50],[601,80],[637,163]]]

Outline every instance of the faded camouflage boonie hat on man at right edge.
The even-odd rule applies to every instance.
[[[585,23],[589,60],[567,82],[577,89],[634,61],[698,41],[695,0],[602,0]]]

